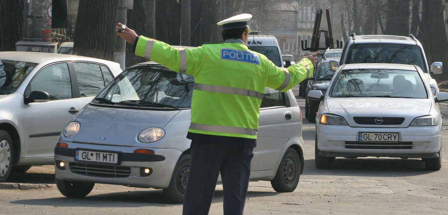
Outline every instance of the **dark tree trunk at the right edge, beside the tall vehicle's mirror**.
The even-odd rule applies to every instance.
[[[445,31],[444,10],[442,0],[424,0],[422,5],[422,23],[418,39],[425,49],[426,58],[431,65],[433,62],[448,64],[448,40]],[[437,80],[448,78],[448,68],[445,67],[441,75],[433,75]]]

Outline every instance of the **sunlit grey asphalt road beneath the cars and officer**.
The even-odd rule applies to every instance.
[[[304,112],[305,102],[297,98]],[[448,130],[443,131],[439,171],[426,170],[420,159],[395,158],[336,158],[332,169],[322,170],[314,163],[315,126],[305,118],[303,124],[305,169],[299,186],[292,193],[276,193],[269,182],[251,182],[245,215],[448,214]],[[164,203],[162,192],[154,189],[96,185],[85,198],[65,198],[54,185],[53,166],[32,167],[26,173],[11,175],[8,182],[20,189],[37,189],[1,189],[1,215],[182,212],[182,205]],[[221,185],[217,186],[210,214],[223,214]]]

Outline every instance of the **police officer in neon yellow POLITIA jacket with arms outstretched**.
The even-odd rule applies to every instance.
[[[134,44],[135,55],[195,77],[184,215],[209,213],[220,172],[224,215],[243,214],[264,88],[285,92],[313,74],[319,52],[286,69],[250,51],[245,44],[251,18],[250,14],[239,14],[219,22],[224,43],[191,50],[137,36],[121,23],[116,27],[119,37]]]

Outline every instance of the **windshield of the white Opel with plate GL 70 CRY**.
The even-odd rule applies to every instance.
[[[383,69],[340,72],[331,96],[428,98],[418,72]]]

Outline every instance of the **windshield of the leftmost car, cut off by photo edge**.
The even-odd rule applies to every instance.
[[[0,60],[0,95],[15,92],[23,79],[37,64],[23,61]]]

